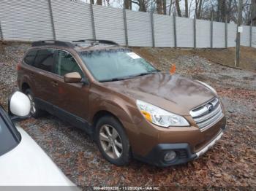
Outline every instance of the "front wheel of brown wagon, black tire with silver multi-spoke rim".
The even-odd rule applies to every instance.
[[[124,132],[123,125],[118,120],[112,116],[100,118],[94,136],[99,151],[108,162],[118,166],[129,163],[131,158],[129,140]]]

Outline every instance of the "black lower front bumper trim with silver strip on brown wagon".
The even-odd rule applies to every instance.
[[[208,151],[208,149],[210,149],[212,146],[214,146],[214,144],[216,144],[216,142],[222,137],[222,135],[222,130],[219,130],[219,133],[217,134],[217,136],[214,137],[214,139],[212,139],[208,144],[206,144],[205,147],[203,147],[202,149],[195,153],[192,153],[192,149],[187,143],[157,144],[157,146],[154,147],[154,149],[152,149],[151,152],[149,152],[148,155],[146,155],[145,157],[135,155],[135,158],[160,167],[187,163],[203,155],[206,151]],[[167,163],[163,160],[163,158],[165,154],[170,150],[176,152],[176,158]]]

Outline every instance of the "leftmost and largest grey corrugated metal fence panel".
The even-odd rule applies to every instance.
[[[0,1],[4,39],[35,41],[53,39],[47,0]]]

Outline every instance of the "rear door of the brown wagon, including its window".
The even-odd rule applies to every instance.
[[[31,77],[34,79],[32,92],[39,106],[48,112],[53,112],[52,105],[58,101],[56,75],[53,73],[55,54],[56,50],[50,48],[38,50],[34,60],[35,69],[31,71]]]

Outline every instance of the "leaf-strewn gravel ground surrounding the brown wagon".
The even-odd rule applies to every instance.
[[[16,86],[16,64],[29,44],[0,44],[0,103]],[[20,122],[69,179],[83,186],[154,185],[173,187],[256,187],[256,74],[221,66],[198,56],[168,59],[161,49],[135,48],[162,71],[176,63],[176,72],[207,82],[217,89],[227,115],[227,130],[203,157],[184,165],[157,168],[133,160],[116,167],[102,158],[96,144],[83,131],[48,115]],[[166,50],[167,51],[167,50]],[[175,51],[175,50],[172,50]],[[256,50],[255,50],[256,52]]]

